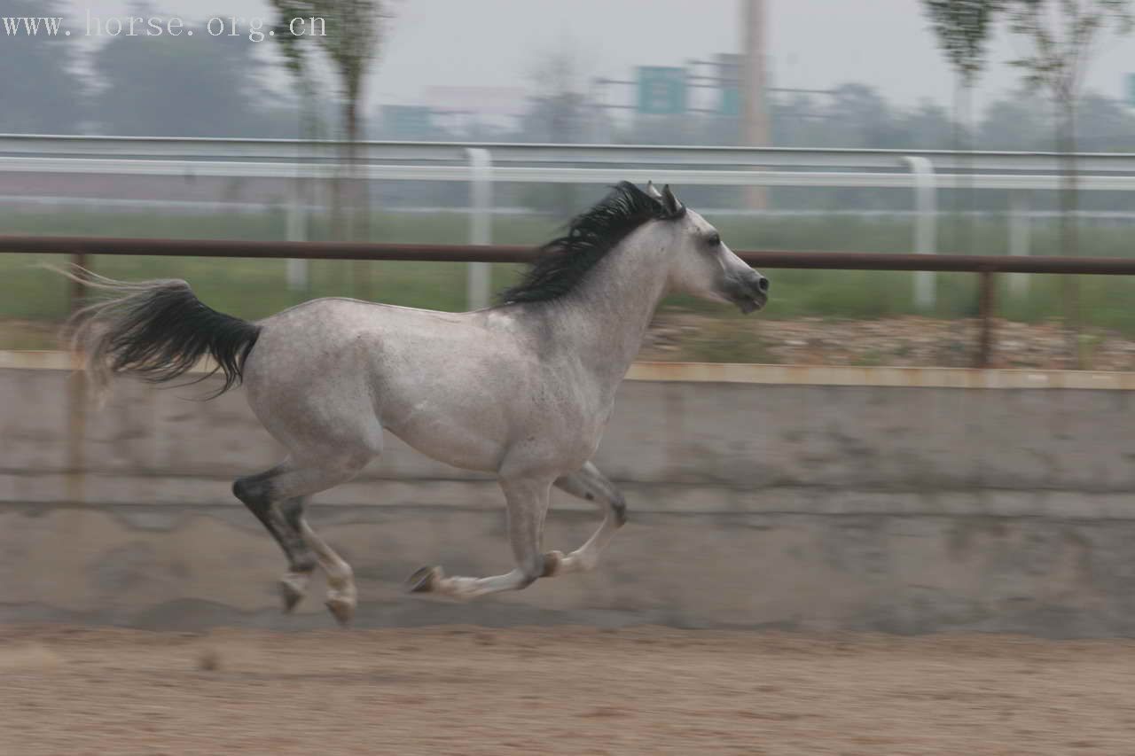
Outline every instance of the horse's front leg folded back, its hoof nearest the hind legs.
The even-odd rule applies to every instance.
[[[476,598],[502,590],[520,590],[554,569],[540,553],[544,516],[548,511],[552,480],[547,477],[502,477],[508,512],[508,543],[516,566],[490,578],[446,577],[440,566],[422,568],[410,576],[411,593],[432,593],[454,598]]]

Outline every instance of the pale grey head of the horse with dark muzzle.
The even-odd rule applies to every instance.
[[[741,312],[768,301],[768,279],[745,263],[721,241],[717,229],[678,201],[670,186],[647,192],[663,203],[675,243],[670,245],[670,289],[715,302],[731,302]]]

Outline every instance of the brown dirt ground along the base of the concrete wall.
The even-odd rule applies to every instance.
[[[0,628],[0,754],[1135,754],[1135,641]]]

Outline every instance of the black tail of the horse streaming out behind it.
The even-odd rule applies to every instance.
[[[205,306],[184,280],[125,283],[82,269],[65,275],[110,295],[72,318],[73,348],[85,355],[98,389],[116,373],[173,380],[205,355],[216,367],[204,377],[225,376],[212,396],[241,384],[260,326]]]

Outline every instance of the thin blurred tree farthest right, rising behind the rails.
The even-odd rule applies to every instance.
[[[1132,31],[1129,0],[1012,0],[1010,28],[1025,39],[1028,51],[1012,65],[1025,72],[1025,83],[1049,92],[1056,107],[1057,151],[1061,159],[1060,247],[1066,255],[1079,253],[1075,212],[1078,204],[1076,175],[1076,104],[1088,64],[1110,28],[1118,35]],[[1076,279],[1066,276],[1065,317],[1069,353],[1079,354],[1079,293]]]

